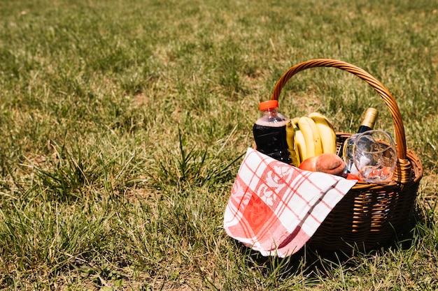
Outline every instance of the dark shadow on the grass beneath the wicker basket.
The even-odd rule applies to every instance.
[[[374,260],[377,256],[383,256],[390,250],[409,251],[425,236],[425,231],[418,230],[421,228],[418,225],[425,225],[430,229],[433,227],[432,221],[425,215],[423,209],[416,207],[400,232],[395,233],[386,243],[365,251],[363,247],[361,251],[360,246],[351,246],[351,252],[321,252],[304,246],[294,255],[278,258],[275,256],[265,257],[259,252],[243,246],[239,241],[235,241],[235,243],[240,255],[247,257],[248,267],[262,270],[264,276],[276,274],[279,278],[285,279],[302,274],[306,278],[318,280],[321,276],[330,276],[330,270],[334,268],[342,266],[344,269],[355,269],[364,260]]]

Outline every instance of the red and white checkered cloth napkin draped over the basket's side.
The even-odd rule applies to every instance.
[[[355,183],[248,149],[225,208],[225,231],[262,255],[284,258],[306,244]]]

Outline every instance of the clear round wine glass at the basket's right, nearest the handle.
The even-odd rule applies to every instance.
[[[362,179],[369,183],[390,179],[397,163],[393,137],[383,130],[368,130],[357,135],[353,161]]]

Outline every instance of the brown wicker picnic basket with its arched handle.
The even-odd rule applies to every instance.
[[[407,149],[404,126],[395,98],[388,89],[365,70],[344,61],[313,59],[292,66],[278,80],[272,100],[278,100],[281,89],[296,73],[308,68],[339,68],[360,77],[383,98],[395,127],[397,165],[391,181],[367,183],[359,181],[337,204],[308,242],[319,251],[367,251],[386,244],[403,230],[414,209],[423,166],[413,151]],[[337,133],[340,147],[351,133]]]

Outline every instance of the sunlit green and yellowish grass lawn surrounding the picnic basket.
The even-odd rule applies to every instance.
[[[436,290],[435,1],[0,1],[1,290]],[[425,176],[407,234],[262,258],[222,229],[257,103],[341,59],[393,93]],[[353,132],[379,96],[336,69],[281,94]]]

